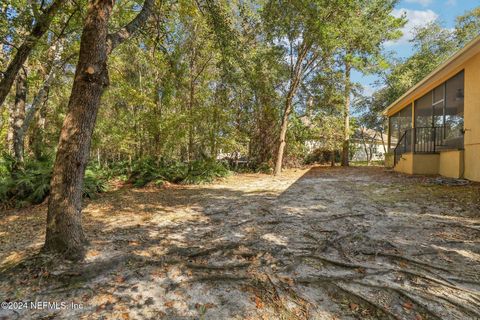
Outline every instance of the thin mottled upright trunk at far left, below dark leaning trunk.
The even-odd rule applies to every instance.
[[[16,80],[15,110],[13,118],[13,155],[15,156],[15,171],[23,168],[23,132],[25,121],[25,105],[27,100],[27,74],[19,72]]]

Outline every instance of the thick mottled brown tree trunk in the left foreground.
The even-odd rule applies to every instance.
[[[44,250],[82,259],[87,239],[82,227],[82,187],[100,98],[106,85],[111,0],[91,0],[80,41],[68,113],[63,122],[48,202]]]

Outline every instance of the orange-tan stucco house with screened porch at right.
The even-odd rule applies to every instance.
[[[396,171],[480,181],[480,37],[384,114]]]

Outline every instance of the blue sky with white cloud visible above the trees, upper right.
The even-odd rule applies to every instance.
[[[409,40],[415,27],[423,26],[432,21],[439,21],[444,28],[455,26],[455,18],[475,7],[480,6],[480,0],[402,0],[393,11],[400,17],[406,13],[407,24],[403,28],[403,37],[395,42],[385,44],[385,50],[393,51],[398,57],[409,57],[412,46]],[[376,76],[364,76],[359,72],[352,74],[352,80],[362,84],[364,94],[369,95],[375,90]]]

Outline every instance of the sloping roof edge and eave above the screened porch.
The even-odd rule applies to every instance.
[[[467,61],[477,53],[480,53],[480,36],[473,39],[465,47],[463,47],[463,49],[457,51],[453,56],[443,62],[429,75],[427,75],[420,82],[411,87],[400,98],[398,98],[397,100],[395,100],[395,102],[389,105],[383,111],[383,114],[388,115],[390,114],[390,111],[392,111],[393,109],[397,109],[398,107],[400,107],[400,109],[403,109],[406,106],[407,102],[411,101],[412,98],[414,98],[418,93],[423,92],[432,83],[436,82],[436,80],[443,79],[445,75],[451,73],[455,69],[458,69],[461,64],[463,64],[465,61]]]

